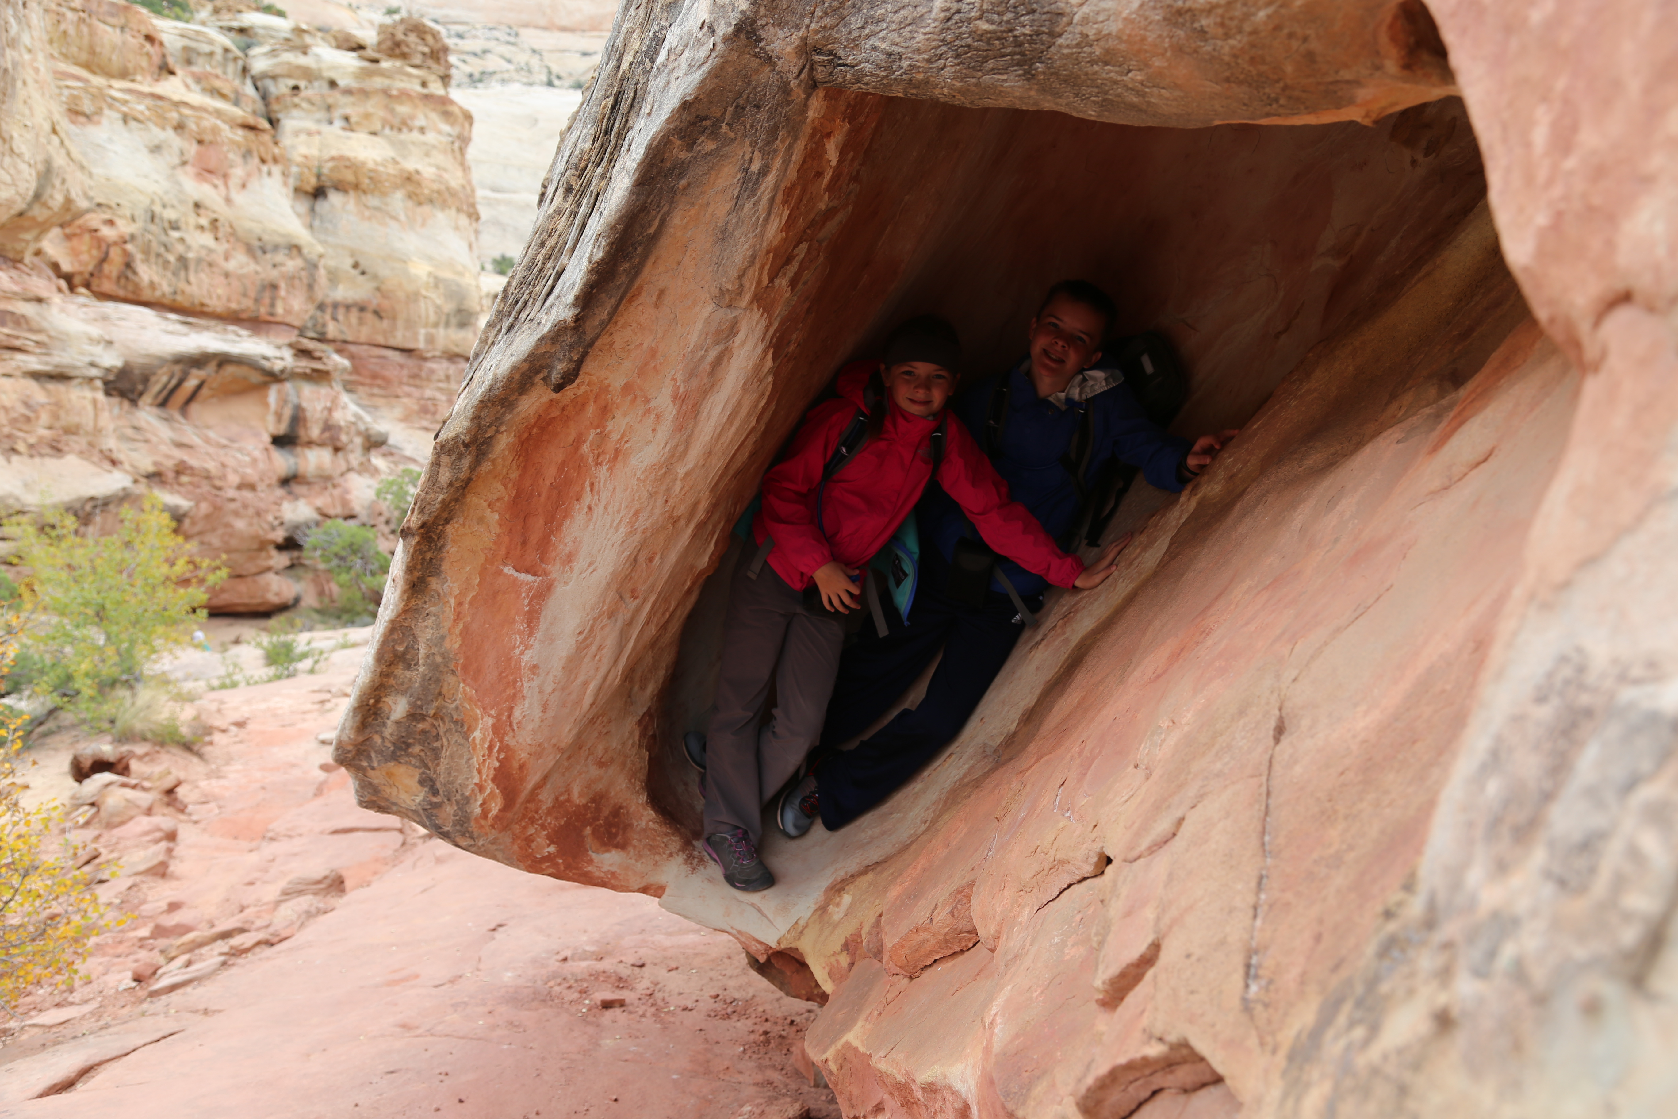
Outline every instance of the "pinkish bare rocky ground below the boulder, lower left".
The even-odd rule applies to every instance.
[[[730,938],[357,809],[324,740],[361,654],[210,691],[196,752],[136,755],[136,783],[180,789],[77,832],[149,866],[99,886],[133,919],[91,980],[23,1008],[0,1112],[837,1117],[799,1067],[816,1007]],[[35,748],[39,792],[74,790],[76,745]]]

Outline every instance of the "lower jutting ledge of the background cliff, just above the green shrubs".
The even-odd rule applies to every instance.
[[[277,574],[290,564],[287,483],[367,476],[388,440],[346,394],[344,357],[295,334],[70,295],[39,265],[0,262],[0,314],[8,512],[91,513],[156,490],[233,575],[211,609],[268,612],[297,599]]]

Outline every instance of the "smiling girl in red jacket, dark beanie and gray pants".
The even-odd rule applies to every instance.
[[[841,619],[862,607],[857,575],[933,478],[933,433],[955,391],[951,371],[960,356],[955,329],[943,319],[904,322],[891,334],[883,362],[841,371],[839,399],[812,409],[787,456],[763,475],[763,507],[752,522],[758,547],[742,555],[730,587],[710,733],[691,735],[688,747],[705,768],[705,851],[735,889],[775,884],[757,854],[763,804],[821,735],[844,644]],[[873,411],[869,398],[878,401]],[[868,438],[824,480],[859,411],[868,414]],[[1116,547],[1086,570],[1025,507],[1008,500],[1007,483],[967,428],[953,418],[943,426],[938,483],[985,544],[1059,587],[1087,589],[1113,574]],[[767,564],[753,564],[753,552],[765,547]],[[770,679],[775,711],[758,730]]]

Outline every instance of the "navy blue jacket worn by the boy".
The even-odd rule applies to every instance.
[[[1030,510],[1050,537],[1059,540],[1077,518],[1077,488],[1072,485],[1072,475],[1060,465],[1060,456],[1072,446],[1084,408],[1092,408],[1096,413],[1092,431],[1096,443],[1089,455],[1086,485],[1094,481],[1107,458],[1118,458],[1139,466],[1153,487],[1173,493],[1183,488],[1176,480],[1176,466],[1188,455],[1191,443],[1166,435],[1148,419],[1129,388],[1123,383],[1114,384],[1089,401],[1072,403],[1062,409],[1052,401],[1037,398],[1027,369],[1029,359],[1003,374],[1010,377],[1008,418],[1002,426],[1002,446],[990,461],[1008,483],[1008,495]],[[951,406],[955,416],[967,424],[973,438],[980,440],[980,445],[995,386],[997,377],[987,377],[956,396]],[[978,539],[961,508],[936,483],[926,487],[915,515],[921,540],[936,547],[946,560],[955,555],[955,542],[963,535]],[[1049,586],[1012,560],[1000,560],[998,567],[1022,596],[1039,594]],[[1002,592],[1002,584],[992,580],[992,591]]]

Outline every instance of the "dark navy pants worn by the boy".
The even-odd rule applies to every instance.
[[[888,599],[891,631],[876,638],[866,626],[869,636],[839,659],[839,679],[822,726],[822,747],[831,753],[816,765],[827,830],[839,830],[862,815],[931,762],[967,725],[1020,639],[1024,626],[1015,621],[1019,611],[1007,596],[992,591],[985,606],[973,607],[926,584],[909,607],[909,624],[898,619]],[[1035,611],[1042,599],[1027,602]],[[899,711],[856,750],[834,752],[891,710],[940,648],[943,659],[920,706]]]

